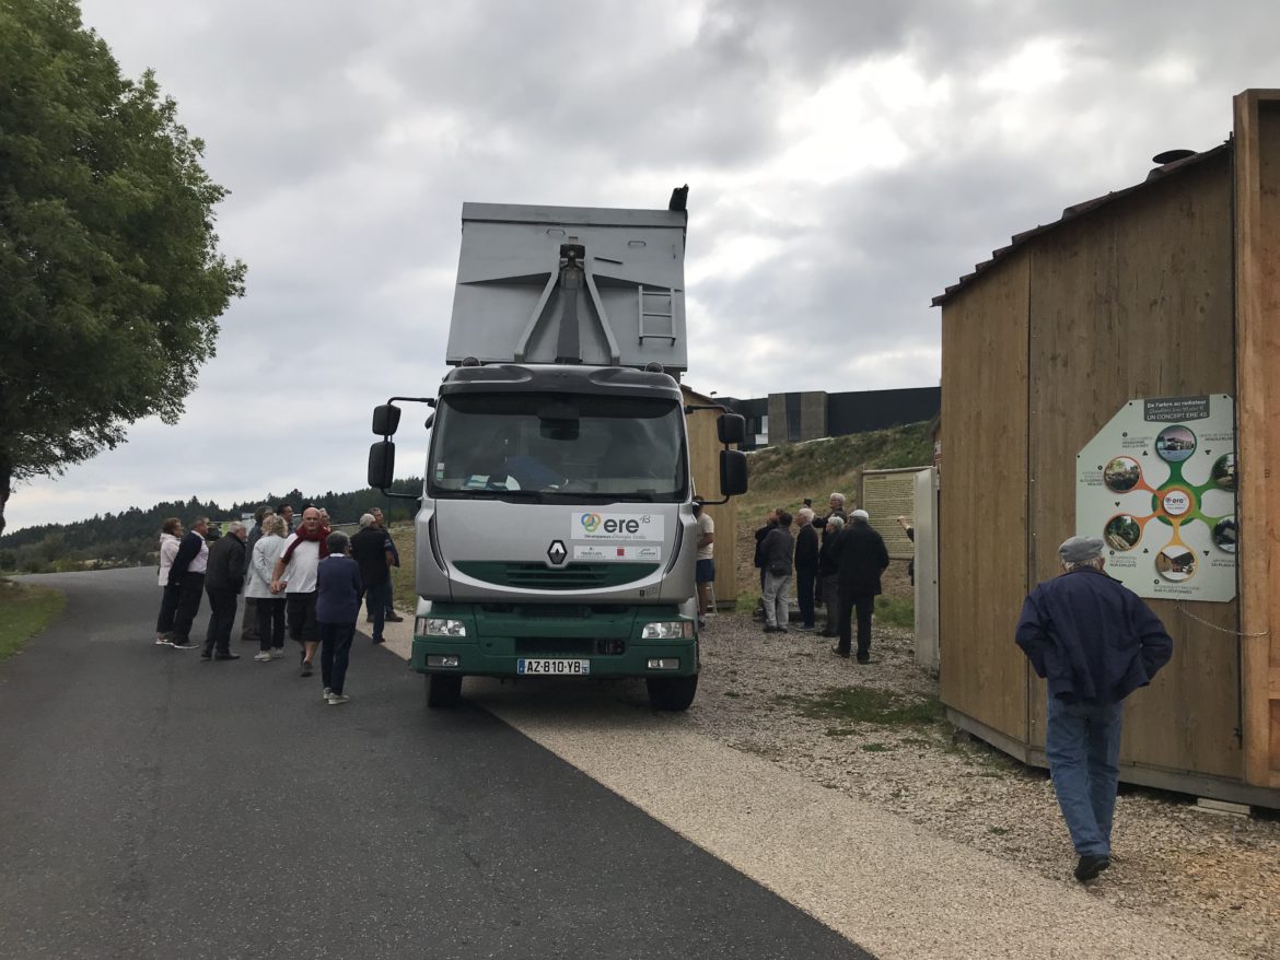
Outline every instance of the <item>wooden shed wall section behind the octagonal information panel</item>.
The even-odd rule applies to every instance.
[[[1234,392],[1230,165],[1224,152],[1032,243],[1029,582],[1061,571],[1075,457],[1125,402]],[[1239,778],[1236,604],[1149,603],[1175,654],[1129,699],[1121,762]],[[1036,746],[1043,722],[1033,682]]]

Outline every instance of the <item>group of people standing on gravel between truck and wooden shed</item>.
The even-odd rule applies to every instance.
[[[808,502],[792,516],[771,509],[755,531],[755,566],[760,571],[760,616],[765,634],[790,632],[790,590],[795,580],[799,630],[818,628],[817,607],[827,609],[822,635],[837,637],[831,648],[838,657],[854,654],[856,613],[859,663],[870,663],[872,614],[882,593],[881,576],[888,567],[884,539],[865,509],[845,511],[845,495],[828,498],[828,512],[817,516]],[[791,532],[792,522],[796,531]],[[819,532],[820,531],[820,532]]]

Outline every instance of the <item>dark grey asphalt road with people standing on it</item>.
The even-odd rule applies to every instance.
[[[328,707],[155,646],[151,571],[28,580],[68,604],[0,664],[3,956],[869,956],[366,641]]]

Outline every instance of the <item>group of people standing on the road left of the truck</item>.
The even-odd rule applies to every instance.
[[[207,517],[196,517],[189,530],[170,517],[160,534],[156,645],[202,646],[204,660],[238,660],[230,635],[243,593],[241,639],[257,641],[253,659],[283,658],[288,632],[300,645],[301,676],[312,675],[319,653],[324,699],[343,704],[351,699],[343,687],[361,604],[375,644],[383,643],[388,621],[402,620],[393,607],[394,566],[399,554],[376,507],[361,516],[353,536],[334,531],[328,513],[310,504],[297,526],[293,507],[282,503],[275,509],[259,507],[251,530],[233,521],[219,538],[210,535]],[[191,628],[204,594],[209,595],[209,628],[200,645],[192,641]]]

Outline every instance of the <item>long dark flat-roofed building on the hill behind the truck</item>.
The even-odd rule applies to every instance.
[[[721,397],[719,402],[746,417],[748,443],[742,449],[755,449],[933,420],[942,406],[942,388],[808,390],[753,399]]]

